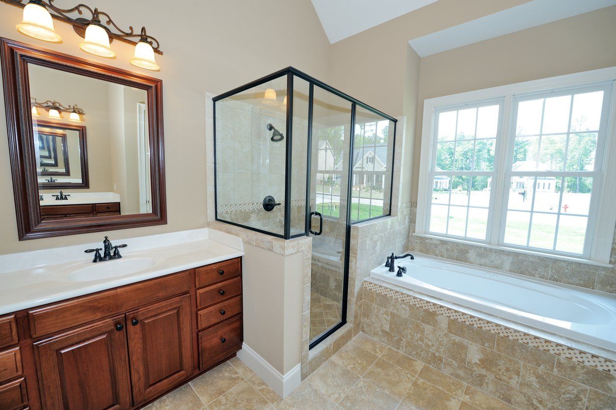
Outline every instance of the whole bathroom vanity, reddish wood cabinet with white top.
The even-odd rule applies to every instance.
[[[122,259],[92,263],[81,253],[84,261],[49,268],[46,278],[36,268],[0,273],[0,409],[139,408],[235,356],[243,252],[209,239],[206,229],[188,232],[201,237],[158,248],[128,240],[136,249]],[[198,260],[216,262],[184,269]],[[160,274],[171,266],[183,269]],[[28,285],[33,278],[40,282]],[[110,287],[119,281],[128,283]],[[88,292],[97,287],[107,289]],[[10,296],[18,288],[23,301]],[[7,312],[36,303],[36,292],[54,301]],[[83,294],[61,296],[75,292]]]

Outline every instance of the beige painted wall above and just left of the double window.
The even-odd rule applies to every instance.
[[[426,98],[616,66],[616,6],[421,59],[413,161],[417,198]]]

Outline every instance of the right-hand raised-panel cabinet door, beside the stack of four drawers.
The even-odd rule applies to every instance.
[[[129,313],[126,324],[136,406],[192,375],[188,295]]]

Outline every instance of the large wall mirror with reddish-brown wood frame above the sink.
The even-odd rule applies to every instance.
[[[0,45],[19,239],[166,224],[162,81]]]

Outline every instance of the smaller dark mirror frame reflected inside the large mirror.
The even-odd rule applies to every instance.
[[[79,161],[81,162],[81,182],[76,183],[62,183],[62,182],[38,182],[39,189],[85,189],[90,187],[89,174],[87,171],[87,144],[86,144],[86,126],[77,124],[64,124],[54,123],[53,121],[36,120],[37,128],[57,129],[62,131],[77,131],[79,136]],[[52,133],[44,133],[51,135]],[[65,143],[62,146],[62,152],[64,155],[65,172],[41,172],[41,176],[60,176],[70,175],[70,160],[68,158],[68,147],[66,143],[66,134],[58,135],[62,137]]]

